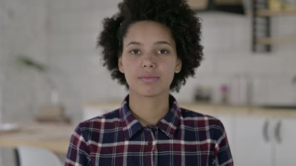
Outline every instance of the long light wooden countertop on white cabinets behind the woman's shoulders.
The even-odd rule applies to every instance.
[[[84,108],[91,109],[116,109],[121,102],[86,102]],[[231,105],[213,105],[207,103],[185,103],[179,102],[180,107],[208,115],[226,114],[226,115],[249,115],[249,116],[288,116],[296,117],[296,109],[267,109],[259,106],[231,106]]]

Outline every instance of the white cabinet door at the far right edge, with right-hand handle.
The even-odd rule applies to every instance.
[[[275,124],[276,166],[296,166],[296,118],[281,118]]]

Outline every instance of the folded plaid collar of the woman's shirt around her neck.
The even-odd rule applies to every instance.
[[[164,132],[169,138],[173,138],[177,127],[180,125],[179,122],[181,109],[176,99],[172,95],[169,95],[169,105],[169,111],[167,112],[166,116],[156,124],[156,127]],[[126,140],[129,140],[135,133],[138,132],[138,130],[142,128],[140,122],[130,112],[129,95],[123,100],[121,104],[119,117]]]

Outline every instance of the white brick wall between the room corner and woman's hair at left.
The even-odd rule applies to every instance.
[[[117,11],[118,2],[50,1],[48,64],[54,69],[66,114],[74,121],[81,120],[84,101],[116,100],[125,95],[124,87],[114,83],[101,66],[96,50],[101,20]]]

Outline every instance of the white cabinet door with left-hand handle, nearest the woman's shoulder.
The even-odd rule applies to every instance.
[[[235,116],[234,164],[273,166],[271,120],[265,116]]]

